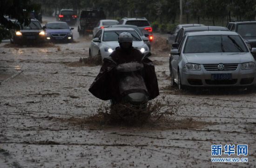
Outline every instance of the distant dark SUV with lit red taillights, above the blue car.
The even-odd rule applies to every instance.
[[[77,15],[73,9],[61,9],[59,15],[56,15],[57,21],[67,22],[69,25],[75,25]]]

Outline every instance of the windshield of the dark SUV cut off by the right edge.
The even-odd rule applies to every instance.
[[[256,24],[238,25],[237,32],[242,37],[256,37]]]

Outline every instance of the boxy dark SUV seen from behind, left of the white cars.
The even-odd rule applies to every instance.
[[[106,19],[106,15],[101,9],[81,11],[77,28],[79,35],[92,34],[94,27],[96,27],[97,23],[102,19]]]

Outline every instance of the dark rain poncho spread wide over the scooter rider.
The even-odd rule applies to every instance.
[[[157,78],[155,75],[155,66],[148,58],[143,58],[143,54],[132,47],[130,52],[124,52],[120,47],[110,55],[112,59],[119,65],[129,62],[139,62],[144,65],[143,79],[145,81],[149,100],[154,99],[159,95]],[[119,78],[115,69],[117,65],[111,62],[104,62],[100,73],[95,78],[93,84],[90,86],[89,91],[101,100],[121,100],[119,90]],[[136,90],[134,90],[136,92]]]

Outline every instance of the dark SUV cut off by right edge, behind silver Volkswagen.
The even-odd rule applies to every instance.
[[[256,48],[256,21],[229,22],[227,27],[240,34],[250,49]]]

